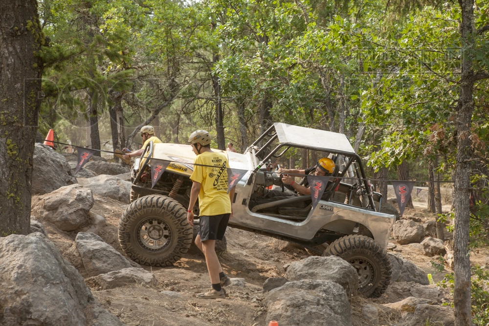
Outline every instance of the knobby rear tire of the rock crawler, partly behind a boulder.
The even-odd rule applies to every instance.
[[[378,298],[391,282],[392,264],[387,251],[374,239],[346,236],[333,241],[323,256],[337,256],[348,261],[358,273],[358,292]]]

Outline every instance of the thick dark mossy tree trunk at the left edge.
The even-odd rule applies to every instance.
[[[0,237],[30,232],[44,43],[35,0],[0,0]]]

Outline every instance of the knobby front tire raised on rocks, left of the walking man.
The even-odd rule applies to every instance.
[[[131,260],[150,266],[170,266],[192,242],[187,211],[168,196],[136,199],[119,220],[119,243]]]

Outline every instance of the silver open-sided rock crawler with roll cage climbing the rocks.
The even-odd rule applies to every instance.
[[[296,196],[255,205],[254,198],[281,183],[279,175],[267,171],[270,162],[297,149],[329,156],[336,163],[336,178],[330,179],[319,204],[312,209],[311,196]],[[385,248],[395,216],[379,212],[382,197],[371,191],[361,159],[345,135],[275,123],[244,154],[224,153],[231,168],[249,170],[236,185],[230,227],[339,256],[356,268],[361,294],[378,297],[385,291],[392,268]],[[132,203],[118,229],[120,245],[133,261],[168,266],[190,247],[193,232],[186,207],[194,157],[190,145],[150,143],[136,159]],[[171,161],[153,189],[151,158]]]

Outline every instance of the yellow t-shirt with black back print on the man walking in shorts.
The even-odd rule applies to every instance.
[[[231,200],[227,194],[227,168],[229,162],[220,152],[203,152],[194,159],[192,181],[200,183],[200,215],[214,216],[231,213]]]

